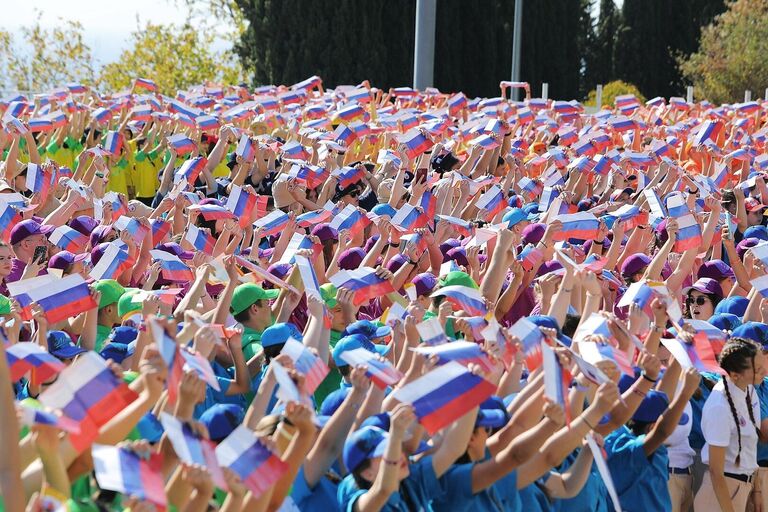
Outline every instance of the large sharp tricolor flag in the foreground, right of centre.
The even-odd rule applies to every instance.
[[[411,404],[430,435],[455,422],[496,391],[496,386],[451,361],[392,394]]]

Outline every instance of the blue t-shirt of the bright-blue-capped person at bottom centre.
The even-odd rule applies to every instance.
[[[432,457],[424,457],[410,465],[411,473],[400,482],[399,491],[393,493],[381,512],[431,512],[432,498],[442,494],[440,482],[432,468]],[[360,489],[352,475],[347,475],[339,484],[337,507],[346,512],[355,510],[355,502],[365,494],[366,489]]]

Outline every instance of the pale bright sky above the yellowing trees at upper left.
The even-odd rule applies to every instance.
[[[18,5],[23,8],[15,9],[13,16],[0,16],[0,28],[18,35],[21,27],[35,22],[38,12],[46,28],[54,27],[60,18],[79,21],[97,65],[117,60],[129,46],[137,16],[142,25],[182,23],[187,16],[182,2],[177,6],[174,0],[25,0]]]

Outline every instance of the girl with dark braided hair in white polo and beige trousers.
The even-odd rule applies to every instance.
[[[750,492],[755,510],[761,510],[757,474],[760,401],[754,386],[765,377],[760,346],[744,338],[731,338],[718,358],[725,376],[712,389],[701,413],[706,443],[701,452],[709,471],[696,494],[694,509],[743,512]],[[754,489],[753,489],[754,486]]]

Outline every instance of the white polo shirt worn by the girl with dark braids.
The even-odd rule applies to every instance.
[[[727,377],[726,377],[727,378]],[[736,466],[736,454],[739,453],[739,438],[736,433],[736,422],[725,395],[725,387],[721,380],[712,388],[712,393],[704,404],[701,413],[701,431],[706,443],[701,451],[704,464],[709,464],[709,445],[725,446],[725,472],[742,475],[751,474],[757,470],[757,431],[749,419],[747,409],[747,393],[737,388],[728,379],[728,391],[731,392],[733,405],[736,408],[741,427],[741,459]],[[760,400],[752,386],[748,387],[752,397],[752,412],[755,421],[760,421]],[[759,424],[759,423],[758,423]]]

